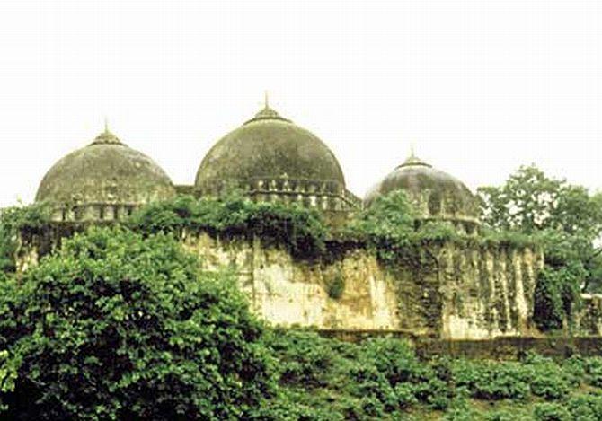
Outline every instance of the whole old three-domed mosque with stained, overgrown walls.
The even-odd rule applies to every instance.
[[[36,202],[49,203],[52,223],[43,234],[22,233],[17,266],[22,271],[35,265],[62,237],[82,226],[77,223],[110,223],[178,194],[220,197],[231,189],[255,201],[318,209],[329,222],[403,190],[415,205],[419,224],[447,221],[459,232],[479,233],[477,201],[462,181],[412,152],[361,200],[347,189],[341,165],[326,143],[266,101],[254,117],[210,148],[194,183],[187,186],[175,186],[151,158],[105,127],[41,180]],[[409,331],[452,339],[533,332],[534,291],[543,256],[528,246],[436,242],[421,250],[435,265],[400,263],[390,268],[361,243],[341,245],[329,239],[332,250],[341,246],[335,259],[304,261],[260,240],[181,232],[182,246],[202,258],[208,270],[235,268],[252,311],[280,326]],[[329,285],[342,285],[340,294],[333,295]],[[598,321],[596,329],[602,332],[602,317]]]

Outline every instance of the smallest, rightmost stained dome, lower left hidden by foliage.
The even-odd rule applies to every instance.
[[[470,189],[413,153],[367,193],[364,204],[370,206],[376,197],[399,189],[405,190],[421,218],[479,224],[479,207]]]

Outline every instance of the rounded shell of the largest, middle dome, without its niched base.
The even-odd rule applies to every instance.
[[[328,146],[266,104],[209,150],[200,163],[195,186],[202,194],[228,181],[281,178],[345,186],[341,166]]]

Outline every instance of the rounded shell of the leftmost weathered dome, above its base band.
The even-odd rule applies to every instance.
[[[50,168],[36,201],[62,206],[138,206],[174,195],[172,181],[153,160],[105,129],[92,144],[67,154]]]

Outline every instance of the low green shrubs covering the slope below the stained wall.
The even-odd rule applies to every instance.
[[[273,419],[602,419],[602,358],[421,361],[400,339],[361,344],[270,330]]]

